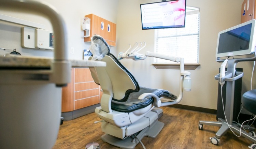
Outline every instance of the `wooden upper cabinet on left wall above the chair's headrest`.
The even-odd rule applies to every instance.
[[[98,17],[94,14],[86,15],[90,18],[90,36],[84,38],[84,42],[90,42],[94,34],[102,36],[110,46],[116,46],[116,24]],[[86,32],[84,31],[84,35]]]

